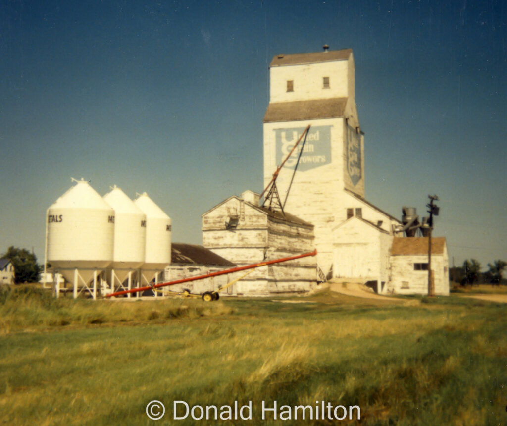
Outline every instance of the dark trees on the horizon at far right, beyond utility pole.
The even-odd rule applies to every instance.
[[[503,270],[507,262],[497,259],[488,263],[488,270],[481,272],[481,263],[476,259],[466,259],[462,266],[449,269],[449,280],[459,282],[462,286],[488,283],[499,286],[507,285],[507,279],[503,277]]]

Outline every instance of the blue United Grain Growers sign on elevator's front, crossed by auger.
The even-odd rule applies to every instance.
[[[291,152],[294,144],[298,141],[306,127],[294,127],[290,129],[275,129],[276,164],[281,164]],[[294,169],[298,163],[298,170],[305,171],[324,164],[331,163],[331,126],[312,126],[306,135],[306,143],[303,147],[301,139],[298,147],[285,163],[285,167]]]

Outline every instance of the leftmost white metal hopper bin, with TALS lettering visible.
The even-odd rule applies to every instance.
[[[85,286],[113,261],[115,211],[85,180],[76,181],[46,215],[47,262]],[[94,291],[95,297],[95,291]]]

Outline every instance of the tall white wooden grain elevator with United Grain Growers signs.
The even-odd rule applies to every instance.
[[[285,210],[315,226],[318,266],[331,277],[340,224],[355,216],[391,235],[399,224],[365,200],[364,132],[355,104],[352,50],[324,46],[321,52],[280,54],[269,73],[264,183],[310,125],[304,147],[287,161],[277,186]]]

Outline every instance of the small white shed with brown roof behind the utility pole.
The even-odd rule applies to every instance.
[[[390,253],[388,292],[428,294],[428,238],[394,238]],[[444,237],[431,238],[431,270],[435,294],[449,295],[449,256]]]

